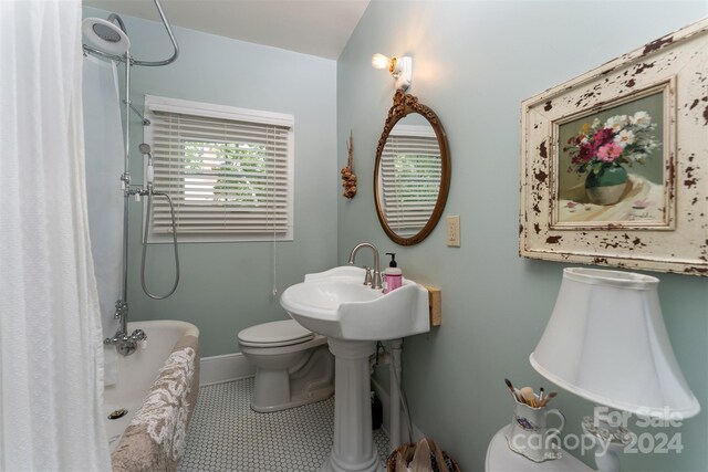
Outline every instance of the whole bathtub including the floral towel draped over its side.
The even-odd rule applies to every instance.
[[[118,356],[118,381],[104,390],[113,470],[174,470],[199,391],[199,329],[179,321],[128,323],[128,333],[138,328],[145,347]]]

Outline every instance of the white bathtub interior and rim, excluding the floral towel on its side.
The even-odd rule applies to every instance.
[[[147,346],[145,348],[138,346],[137,350],[127,357],[118,356],[118,381],[107,386],[104,391],[104,421],[112,452],[131,420],[143,406],[160,368],[173,353],[175,344],[183,340],[185,336],[199,337],[199,329],[187,322],[159,319],[128,323],[128,333],[138,328],[147,334]],[[198,357],[196,361],[198,364]],[[198,388],[198,366],[196,376],[194,384]],[[108,419],[113,411],[122,408],[127,409],[127,415],[115,420]]]

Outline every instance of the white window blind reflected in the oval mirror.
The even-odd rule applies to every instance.
[[[381,190],[391,229],[400,235],[414,235],[425,227],[435,209],[441,161],[434,133],[416,132],[417,126],[405,128],[405,132],[392,133],[384,146]]]

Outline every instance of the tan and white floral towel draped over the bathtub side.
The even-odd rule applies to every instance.
[[[114,472],[174,471],[199,394],[199,345],[185,336],[173,349],[113,452]]]

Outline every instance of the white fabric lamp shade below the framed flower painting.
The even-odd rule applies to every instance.
[[[572,268],[531,365],[559,387],[641,416],[690,418],[700,405],[678,367],[648,275]],[[680,417],[678,416],[680,415]]]

